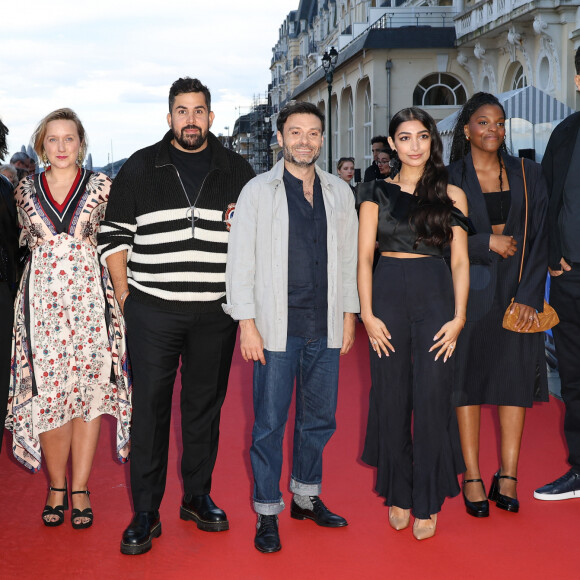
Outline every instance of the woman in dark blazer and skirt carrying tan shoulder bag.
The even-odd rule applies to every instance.
[[[453,400],[467,471],[463,498],[468,514],[489,515],[479,469],[481,405],[498,406],[500,469],[489,499],[517,512],[518,458],[526,407],[548,400],[543,334],[502,328],[512,298],[520,305],[519,325],[537,324],[547,272],[547,194],[541,167],[525,160],[528,235],[518,284],[525,227],[524,175],[520,159],[507,154],[505,111],[496,97],[475,94],[455,127],[449,181],[467,195],[477,234],[469,238],[471,287],[467,322],[457,347]],[[491,443],[495,446],[495,442]]]

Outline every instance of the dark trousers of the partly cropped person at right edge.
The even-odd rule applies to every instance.
[[[560,318],[552,329],[558,356],[568,462],[580,472],[580,264],[552,278],[550,304]]]

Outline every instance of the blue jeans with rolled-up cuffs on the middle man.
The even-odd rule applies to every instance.
[[[254,509],[274,515],[284,509],[280,492],[282,441],[296,379],[296,422],[290,490],[319,495],[322,451],[336,429],[338,348],[327,339],[289,336],[285,352],[264,350],[254,363],[254,429],[250,458]]]

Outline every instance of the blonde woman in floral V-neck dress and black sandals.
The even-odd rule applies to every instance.
[[[71,522],[85,528],[93,521],[87,484],[103,413],[117,419],[120,459],[129,453],[124,321],[96,249],[111,181],[82,168],[87,140],[72,110],[47,115],[32,141],[46,171],[23,179],[15,193],[30,258],[15,304],[6,427],[15,457],[32,471],[42,450],[47,526],[64,521],[71,456]]]

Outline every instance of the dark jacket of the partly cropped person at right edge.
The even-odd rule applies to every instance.
[[[562,209],[564,184],[568,169],[572,163],[572,153],[576,145],[576,137],[580,129],[580,112],[564,119],[550,135],[546,153],[542,159],[542,169],[548,186],[548,233],[549,258],[548,264],[553,270],[560,270],[562,256],[562,241],[558,218]],[[579,163],[577,159],[575,163]]]

